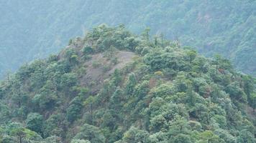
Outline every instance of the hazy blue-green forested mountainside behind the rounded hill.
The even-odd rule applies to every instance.
[[[256,71],[254,0],[26,0],[0,1],[0,73],[57,53],[70,37],[97,24],[126,24],[140,33],[178,39],[206,56],[229,58]]]

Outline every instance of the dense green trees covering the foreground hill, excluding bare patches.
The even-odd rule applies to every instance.
[[[97,68],[111,76],[85,78]],[[254,89],[221,56],[101,25],[1,82],[0,142],[253,143]]]

